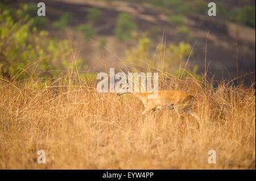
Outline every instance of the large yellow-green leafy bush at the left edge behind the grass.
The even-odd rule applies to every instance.
[[[61,66],[69,65],[69,42],[52,40],[47,31],[38,31],[24,11],[26,7],[15,14],[0,9],[0,73],[20,78],[26,67],[31,76],[42,72],[56,76]]]

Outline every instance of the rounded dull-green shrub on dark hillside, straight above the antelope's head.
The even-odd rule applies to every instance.
[[[130,37],[130,32],[136,28],[133,18],[130,14],[123,12],[119,14],[117,25],[115,26],[115,37],[118,40],[127,40]]]

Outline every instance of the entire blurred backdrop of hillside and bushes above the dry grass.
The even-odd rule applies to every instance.
[[[39,2],[46,4],[46,16],[37,15]],[[26,66],[31,75],[56,77],[74,66],[73,49],[85,76],[109,68],[148,71],[150,64],[175,75],[185,68],[200,77],[206,66],[209,78],[247,74],[250,84],[255,78],[255,1],[215,1],[217,16],[208,16],[209,2],[3,0],[0,71],[12,77]],[[36,60],[40,64],[32,63]]]

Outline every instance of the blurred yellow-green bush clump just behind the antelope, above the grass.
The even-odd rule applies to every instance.
[[[198,66],[194,66],[192,70],[187,67],[186,71],[180,69],[181,65],[185,65],[189,54],[193,54],[190,44],[181,41],[177,45],[170,43],[167,47],[159,45],[154,55],[150,54],[152,41],[148,37],[138,37],[136,40],[138,46],[127,49],[125,57],[125,62],[135,68],[135,71],[150,71],[150,65],[159,68],[164,64],[164,68],[179,77],[190,76],[188,74],[192,74],[195,78],[202,78],[200,75],[197,75]]]

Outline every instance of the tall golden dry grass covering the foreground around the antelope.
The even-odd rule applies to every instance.
[[[100,94],[75,73],[42,87],[1,79],[0,169],[255,169],[255,89],[161,80],[196,97],[199,129],[187,113],[183,125],[174,111],[142,116],[139,100]]]

